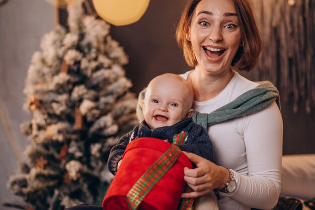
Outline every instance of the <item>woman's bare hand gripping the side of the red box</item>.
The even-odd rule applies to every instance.
[[[190,161],[194,162],[197,168],[184,168],[184,180],[194,192],[183,193],[182,197],[199,197],[213,189],[224,189],[229,178],[226,168],[217,166],[214,163],[193,153],[183,152]]]

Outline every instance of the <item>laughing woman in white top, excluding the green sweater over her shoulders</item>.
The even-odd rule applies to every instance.
[[[211,113],[259,85],[233,70],[251,71],[262,50],[248,0],[190,0],[176,35],[187,63],[195,67],[182,75],[194,89],[195,111]],[[281,188],[283,133],[276,103],[207,131],[215,164],[187,153],[197,168],[185,169],[185,180],[194,192],[183,197],[218,189],[222,210],[273,208]]]

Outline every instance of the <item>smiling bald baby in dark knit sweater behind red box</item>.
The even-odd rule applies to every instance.
[[[191,119],[194,94],[189,83],[176,74],[155,77],[147,86],[142,111],[144,120],[119,139],[110,152],[108,169],[116,174],[128,143],[140,137],[154,137],[178,144],[177,135],[185,135],[178,147],[213,162],[213,148],[209,136]]]

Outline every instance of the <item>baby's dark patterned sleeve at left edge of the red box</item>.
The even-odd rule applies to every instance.
[[[107,166],[108,170],[115,175],[117,172],[117,165],[118,162],[122,159],[122,155],[124,154],[126,147],[129,143],[129,138],[132,131],[128,132],[124,136],[122,136],[118,143],[111,149],[111,152],[109,154]]]

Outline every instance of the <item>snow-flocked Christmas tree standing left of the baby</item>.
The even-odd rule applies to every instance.
[[[122,65],[128,58],[109,35],[110,25],[68,8],[69,32],[58,26],[41,41],[28,69],[22,126],[32,145],[8,187],[22,209],[59,210],[82,202],[100,205],[113,176],[107,159],[119,137],[137,123],[137,99]]]

